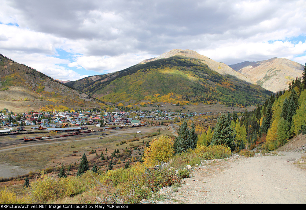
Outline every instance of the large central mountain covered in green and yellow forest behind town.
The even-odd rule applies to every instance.
[[[147,103],[220,102],[249,106],[261,103],[271,94],[235,76],[221,75],[204,63],[202,56],[199,59],[194,51],[189,52],[194,58],[180,54],[167,55],[108,75],[96,75],[96,80],[86,77],[67,85],[111,103],[146,100]],[[219,70],[230,69],[225,64],[218,65]],[[231,72],[239,75],[233,69]]]

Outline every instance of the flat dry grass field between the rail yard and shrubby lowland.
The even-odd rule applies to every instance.
[[[114,132],[107,132],[114,133]],[[158,132],[156,132],[158,133]],[[81,156],[86,152],[88,154],[89,151],[95,150],[98,155],[105,153],[105,148],[107,148],[107,155],[111,155],[114,150],[119,149],[122,152],[126,147],[130,148],[129,142],[134,138],[134,133],[122,133],[120,135],[112,136],[112,138],[108,138],[108,136],[103,136],[103,139],[98,139],[100,137],[101,132],[97,132],[97,134],[91,135],[81,135],[77,137],[67,137],[61,140],[61,142],[52,144],[57,140],[49,140],[43,142],[35,142],[36,143],[44,143],[43,145],[35,145],[31,147],[21,148],[21,145],[15,145],[14,149],[3,151],[0,154],[0,158],[2,162],[10,163],[11,166],[18,166],[23,169],[27,169],[28,171],[40,170],[46,167],[53,167],[63,165],[69,165],[71,163],[79,163]],[[151,134],[151,132],[142,132],[137,133],[136,137],[140,137],[138,141],[132,141],[134,145],[143,145],[143,141],[146,143],[147,141],[151,141],[154,137],[149,138],[141,138],[146,136],[147,134]],[[161,131],[162,134],[169,134],[169,131]],[[33,134],[35,137],[43,136],[41,134]],[[12,141],[17,140],[19,138],[28,137],[28,135],[18,135],[17,136],[8,136],[8,139],[3,141]],[[121,141],[125,140],[125,144],[118,144]],[[64,142],[67,141],[67,142]],[[69,142],[68,142],[69,141]],[[34,143],[34,142],[31,142]],[[30,144],[30,143],[29,143]],[[116,145],[118,144],[118,145]],[[10,146],[11,147],[11,146]],[[73,152],[78,151],[78,152]],[[143,153],[143,152],[141,152]],[[139,154],[139,151],[137,151]],[[72,156],[75,155],[75,156]],[[95,157],[94,154],[89,154],[87,156],[88,159],[92,159]],[[53,163],[54,162],[54,163]],[[121,160],[121,162],[123,162]]]

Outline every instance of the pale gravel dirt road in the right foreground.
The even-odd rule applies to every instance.
[[[301,153],[278,154],[205,161],[178,192],[161,190],[164,203],[306,204],[306,169],[295,162]]]

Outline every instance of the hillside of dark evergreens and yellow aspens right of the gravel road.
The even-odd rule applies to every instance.
[[[296,135],[306,133],[306,67],[303,78],[296,78],[288,90],[271,95],[262,106],[244,113],[240,124],[246,128],[247,139],[254,148],[263,143],[274,150]]]

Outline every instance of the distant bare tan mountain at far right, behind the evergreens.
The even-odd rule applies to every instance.
[[[304,69],[303,65],[285,58],[271,58],[257,62],[245,61],[229,66],[272,92],[287,89],[293,79],[297,76],[302,77]]]

